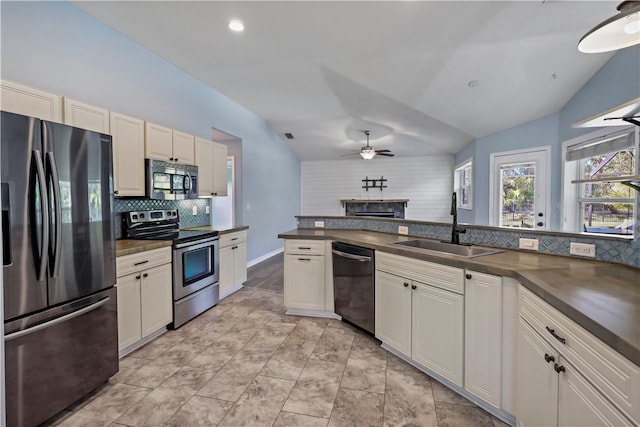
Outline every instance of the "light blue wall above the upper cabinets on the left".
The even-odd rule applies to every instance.
[[[296,227],[300,161],[263,119],[65,2],[2,2],[2,78],[210,139],[242,139],[249,260]],[[215,215],[215,212],[214,212]]]

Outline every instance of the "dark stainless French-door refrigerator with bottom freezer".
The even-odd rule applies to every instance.
[[[32,426],[118,371],[111,137],[1,114],[6,416]]]

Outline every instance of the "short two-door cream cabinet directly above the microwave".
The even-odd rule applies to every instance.
[[[194,137],[145,122],[145,156],[150,159],[195,164]]]

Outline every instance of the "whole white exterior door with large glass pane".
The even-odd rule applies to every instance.
[[[491,154],[491,225],[549,229],[549,152],[550,147],[536,147]]]

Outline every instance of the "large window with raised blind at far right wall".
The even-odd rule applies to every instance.
[[[573,170],[572,176],[579,180],[594,181],[574,184],[577,230],[573,231],[633,236],[635,190],[607,180],[637,173],[636,134],[635,129],[626,129],[566,147],[566,170]]]

